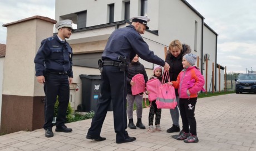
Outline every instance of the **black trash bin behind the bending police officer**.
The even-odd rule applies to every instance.
[[[101,75],[80,75],[82,80],[82,111],[97,111],[97,103],[100,98]],[[113,111],[112,101],[108,111]]]

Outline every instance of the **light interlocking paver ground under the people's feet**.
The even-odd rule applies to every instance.
[[[170,111],[163,109],[161,132],[151,133],[147,129],[129,129],[127,132],[137,140],[131,143],[116,144],[113,113],[108,112],[101,136],[102,142],[85,139],[91,119],[67,123],[72,133],[55,132],[54,137],[46,138],[44,129],[32,132],[20,131],[0,136],[0,150],[218,150],[239,151],[256,150],[256,103],[255,94],[230,94],[199,98],[196,103],[195,117],[199,143],[184,143],[171,138],[177,133],[166,133],[172,126]],[[144,108],[142,123],[148,127],[149,108]],[[136,117],[136,111],[134,111]],[[135,119],[136,122],[136,119]],[[181,119],[180,126],[182,127]]]

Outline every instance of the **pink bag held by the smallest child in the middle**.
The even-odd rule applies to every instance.
[[[149,101],[155,101],[158,93],[159,93],[159,87],[161,86],[161,82],[159,79],[150,79],[147,81],[146,90],[150,91],[149,93]]]

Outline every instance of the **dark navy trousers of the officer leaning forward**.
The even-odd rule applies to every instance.
[[[129,137],[126,116],[127,82],[126,72],[120,71],[118,66],[105,65],[101,74],[101,96],[98,101],[97,111],[92,118],[88,135],[100,136],[102,124],[112,100],[114,114],[114,128],[116,141],[124,141]]]

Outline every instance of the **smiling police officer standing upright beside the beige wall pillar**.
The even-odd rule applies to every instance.
[[[36,77],[44,84],[45,100],[45,137],[53,137],[52,119],[54,105],[58,96],[58,113],[56,132],[71,132],[65,126],[66,111],[70,97],[70,86],[73,79],[72,48],[65,40],[72,34],[72,20],[61,20],[55,24],[58,34],[41,42],[35,57]]]

